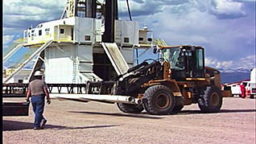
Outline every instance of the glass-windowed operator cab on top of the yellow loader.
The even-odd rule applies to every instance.
[[[171,65],[171,78],[204,78],[204,48],[167,46],[161,49],[163,59]]]

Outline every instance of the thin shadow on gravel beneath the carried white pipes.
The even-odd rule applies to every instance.
[[[148,118],[148,119],[161,119],[162,117],[153,117],[147,113],[134,113],[134,114],[126,114],[126,113],[100,113],[100,112],[76,112],[76,111],[68,111],[69,113],[85,113],[85,114],[101,114],[108,116],[117,116],[117,117],[134,117],[134,118]],[[144,114],[144,115],[142,115]]]

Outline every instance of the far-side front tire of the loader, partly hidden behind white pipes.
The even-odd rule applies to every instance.
[[[141,113],[144,110],[142,105],[131,105],[125,103],[117,103],[118,109],[123,113]]]

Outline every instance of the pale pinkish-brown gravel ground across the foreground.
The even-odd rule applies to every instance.
[[[14,99],[12,99],[14,100]],[[52,101],[44,130],[28,117],[3,117],[3,143],[250,143],[255,139],[255,99],[224,98],[220,113],[200,113],[188,105],[177,114],[127,114],[116,105]]]

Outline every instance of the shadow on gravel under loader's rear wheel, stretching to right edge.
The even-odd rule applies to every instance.
[[[256,109],[221,109],[220,112],[218,113],[251,113],[251,112],[256,112]],[[200,110],[182,110],[179,113],[176,114],[200,114],[203,113]],[[204,113],[205,114],[205,113]]]

